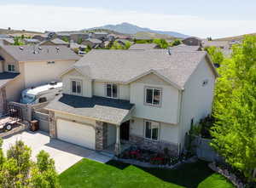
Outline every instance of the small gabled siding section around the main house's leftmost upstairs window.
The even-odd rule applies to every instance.
[[[84,77],[78,71],[70,71],[65,74],[62,78],[63,83],[63,93],[64,94],[72,94],[72,80],[81,80],[82,81],[82,96],[91,97],[92,92],[92,82],[88,77]]]

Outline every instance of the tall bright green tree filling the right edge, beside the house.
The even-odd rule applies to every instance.
[[[248,181],[256,181],[256,37],[245,37],[219,68],[212,146]]]

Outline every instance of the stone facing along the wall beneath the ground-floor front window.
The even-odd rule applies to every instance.
[[[148,140],[143,137],[131,134],[129,143],[131,145],[137,145],[140,148],[150,151],[164,151],[165,148],[170,150],[170,153],[173,155],[177,155],[178,153],[178,145],[165,142],[165,141],[156,141],[156,140]]]

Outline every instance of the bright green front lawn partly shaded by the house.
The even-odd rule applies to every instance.
[[[206,162],[171,170],[83,159],[60,174],[60,181],[63,188],[233,188],[224,177],[214,174]]]

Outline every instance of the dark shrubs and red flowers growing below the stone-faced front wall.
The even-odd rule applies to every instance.
[[[130,149],[124,151],[119,156],[123,159],[134,159],[140,162],[149,162],[154,165],[174,165],[177,162],[184,161],[189,157],[192,157],[189,153],[182,154],[180,156],[173,156],[170,154],[169,150],[165,148],[164,152],[155,152],[144,150],[137,147],[131,147]]]

